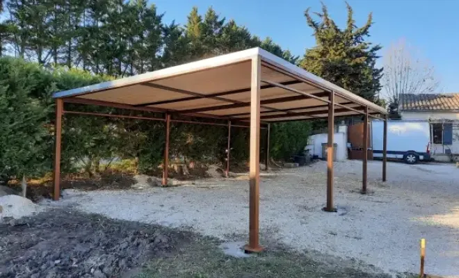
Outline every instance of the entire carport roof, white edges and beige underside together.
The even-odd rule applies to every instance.
[[[264,122],[327,117],[330,91],[335,92],[335,105],[339,106],[337,117],[363,114],[364,106],[368,106],[370,114],[386,113],[384,108],[259,48],[57,92],[54,97],[247,120],[250,60],[254,56],[261,58],[260,113]]]

